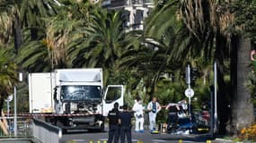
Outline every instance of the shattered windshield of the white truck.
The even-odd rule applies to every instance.
[[[64,101],[83,101],[101,99],[100,86],[62,86],[61,97]]]

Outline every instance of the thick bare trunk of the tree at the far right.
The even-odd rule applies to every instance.
[[[232,127],[233,133],[237,134],[252,122],[254,122],[253,105],[248,88],[245,87],[250,72],[250,52],[252,49],[249,38],[232,38],[231,56],[231,85],[232,94]]]

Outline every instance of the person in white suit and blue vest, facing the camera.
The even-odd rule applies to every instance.
[[[156,115],[161,110],[161,105],[157,102],[156,97],[153,97],[152,101],[147,105],[147,110],[149,112],[149,128],[151,131],[154,131]]]

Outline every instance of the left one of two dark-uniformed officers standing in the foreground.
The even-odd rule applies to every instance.
[[[114,138],[114,143],[119,142],[119,103],[114,104],[114,108],[108,114],[110,122],[109,139],[108,143],[112,143]]]

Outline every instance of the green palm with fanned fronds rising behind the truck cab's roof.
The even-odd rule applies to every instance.
[[[73,53],[76,58],[74,67],[101,67],[104,69],[104,81],[107,83],[113,74],[115,63],[121,56],[129,40],[122,29],[121,13],[98,9],[91,13],[92,19],[84,29],[84,45],[76,46]],[[81,42],[81,39],[79,39]]]

